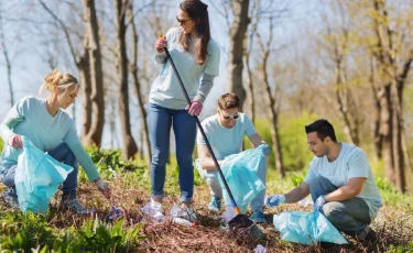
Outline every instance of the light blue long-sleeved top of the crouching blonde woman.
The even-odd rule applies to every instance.
[[[85,169],[89,180],[99,177],[91,158],[79,141],[75,121],[61,109],[56,116],[52,117],[47,111],[45,100],[35,97],[23,98],[12,107],[0,124],[0,135],[4,141],[0,173],[18,164],[19,155],[23,151],[7,144],[13,133],[28,138],[44,152],[55,148],[62,141],[65,142]]]

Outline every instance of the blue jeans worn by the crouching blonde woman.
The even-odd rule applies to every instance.
[[[58,162],[73,167],[73,172],[67,175],[66,180],[63,183],[62,191],[64,195],[69,196],[70,198],[76,198],[77,173],[79,165],[75,155],[64,142],[58,144],[55,148],[47,151],[47,154]],[[12,165],[10,168],[3,172],[3,184],[9,188],[14,188],[14,174],[17,168],[18,165]]]

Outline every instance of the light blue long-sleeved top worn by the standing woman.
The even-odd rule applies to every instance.
[[[207,46],[207,58],[203,65],[195,62],[194,55],[184,51],[178,42],[181,29],[174,28],[167,31],[167,48],[177,68],[185,89],[193,100],[199,88],[203,74],[217,77],[219,75],[219,46],[210,38]],[[191,43],[191,51],[194,42]],[[187,105],[185,96],[181,90],[180,82],[171,66],[170,61],[162,64],[161,70],[151,87],[149,102],[164,108],[181,110]]]

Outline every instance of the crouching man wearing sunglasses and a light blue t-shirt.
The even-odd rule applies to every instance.
[[[261,139],[260,134],[257,133],[250,118],[239,111],[239,98],[236,94],[225,94],[218,99],[217,113],[203,121],[203,129],[219,165],[222,164],[225,157],[238,154],[242,151],[243,136],[248,136],[256,147],[264,145],[264,148],[262,150],[264,156],[270,154],[270,147]],[[210,188],[211,200],[208,209],[219,211],[221,209],[222,199],[219,175],[209,154],[206,142],[199,132],[197,134],[197,147],[199,158],[196,168]],[[267,166],[261,166],[257,172],[257,176],[263,184],[265,184]],[[254,222],[265,222],[263,213],[264,198],[265,190],[262,190],[251,201],[252,215],[250,219]]]

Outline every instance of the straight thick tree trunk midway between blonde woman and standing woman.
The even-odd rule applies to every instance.
[[[127,2],[124,0],[115,0],[116,9],[116,33],[117,33],[117,68],[118,68],[118,96],[119,96],[119,117],[123,136],[123,155],[129,160],[138,152],[130,128],[129,113],[129,87],[128,87],[128,56],[127,56],[127,26],[124,23]]]

